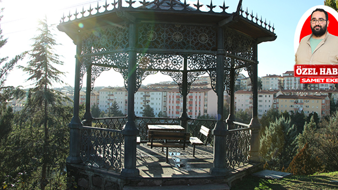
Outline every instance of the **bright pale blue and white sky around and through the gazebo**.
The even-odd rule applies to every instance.
[[[183,1],[183,0],[182,0]],[[226,0],[225,5],[229,6],[227,13],[236,11],[239,0]],[[108,0],[108,2],[110,2]],[[0,57],[9,57],[9,60],[21,52],[32,49],[31,44],[35,35],[37,35],[38,20],[46,15],[49,24],[57,26],[63,14],[68,15],[69,11],[75,13],[75,9],[82,10],[82,6],[89,4],[96,6],[97,3],[105,4],[105,0],[2,0],[0,7],[3,7],[3,15],[0,25],[2,35],[8,38],[7,44],[0,49]],[[196,1],[187,1],[194,3]],[[202,4],[210,4],[210,0],[200,0]],[[223,0],[213,0],[213,5],[223,5]],[[293,70],[294,65],[294,34],[299,19],[311,7],[323,5],[323,0],[243,0],[244,10],[266,18],[267,22],[274,24],[274,32],[277,39],[273,42],[263,42],[258,45],[258,76],[267,74],[282,75],[286,71]],[[66,72],[62,76],[65,84],[53,84],[53,87],[62,87],[66,85],[74,86],[75,74],[75,53],[76,46],[72,40],[64,33],[54,28],[56,42],[61,44],[55,47],[55,52],[62,55],[60,58],[64,62],[63,66],[57,66],[60,71]],[[18,65],[26,66],[29,57],[22,60]],[[247,73],[243,73],[248,76]],[[7,77],[5,85],[23,86],[23,88],[32,87],[32,81],[26,81],[29,77],[18,68],[12,70]],[[160,73],[148,75],[142,81],[143,85],[153,84],[160,81],[172,81],[170,76]],[[83,86],[86,86],[85,78]],[[120,73],[113,71],[104,71],[95,80],[95,86],[124,86],[123,78]]]

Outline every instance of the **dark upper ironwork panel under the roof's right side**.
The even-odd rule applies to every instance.
[[[228,54],[253,60],[253,45],[253,39],[229,28],[224,30],[224,49]]]

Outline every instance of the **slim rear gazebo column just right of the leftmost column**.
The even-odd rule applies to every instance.
[[[90,113],[90,94],[92,90],[92,65],[87,68],[87,88],[86,88],[86,112],[84,113],[83,119],[85,122],[84,126],[92,126],[93,117]]]

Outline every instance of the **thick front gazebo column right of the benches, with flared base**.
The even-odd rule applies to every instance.
[[[223,122],[223,93],[224,93],[224,37],[223,28],[218,28],[218,50],[216,58],[216,89],[217,89],[217,122],[212,130],[214,135],[214,164],[210,169],[211,175],[224,176],[227,175],[226,168],[226,136],[228,130]]]

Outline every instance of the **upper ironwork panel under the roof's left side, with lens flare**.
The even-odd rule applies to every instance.
[[[82,55],[127,48],[129,28],[126,24],[96,28],[82,34]]]

